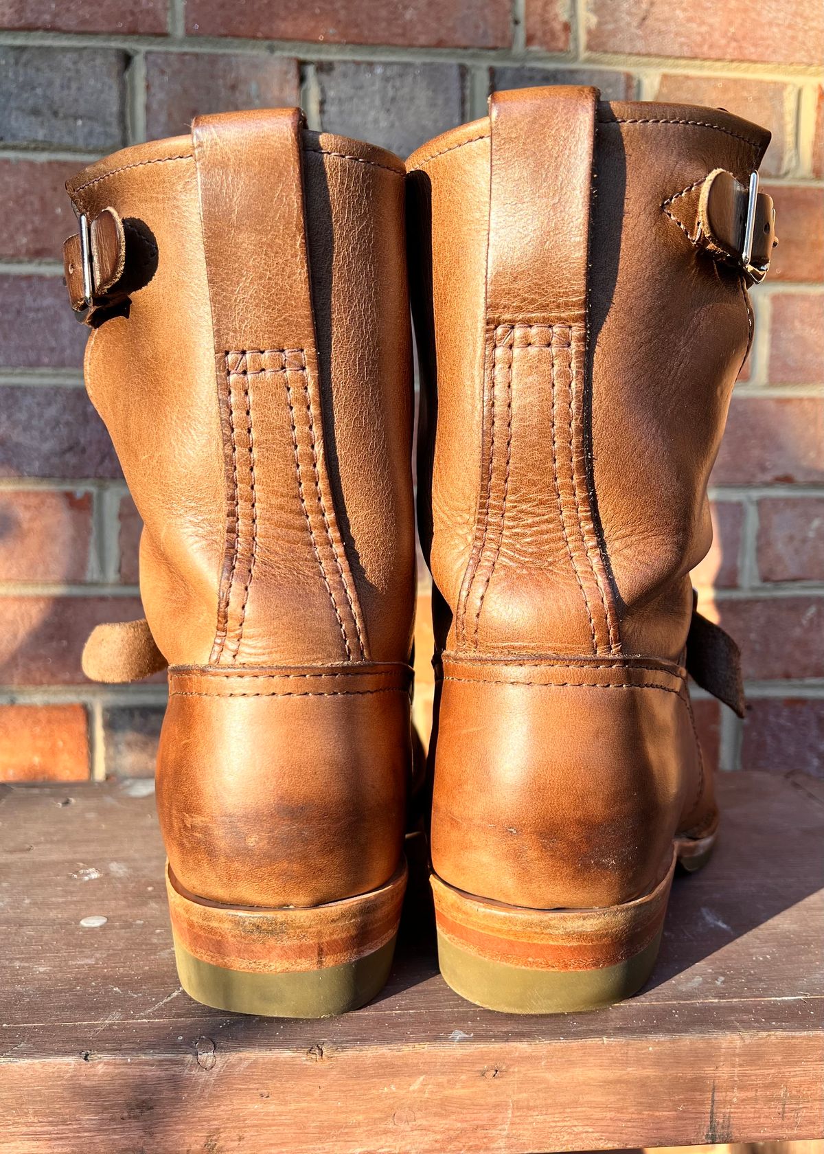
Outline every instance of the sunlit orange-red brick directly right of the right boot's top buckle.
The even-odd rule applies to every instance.
[[[771,280],[824,280],[824,188],[765,185],[776,202],[779,245]]]

